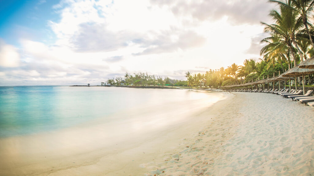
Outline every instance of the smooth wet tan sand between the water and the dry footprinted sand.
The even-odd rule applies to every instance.
[[[203,107],[201,111],[206,109]],[[114,175],[116,172],[118,175],[143,175],[147,168],[141,164],[164,157],[186,138],[186,133],[195,131],[203,123],[202,116],[198,115],[199,109],[192,111],[187,114],[174,111],[186,116],[183,121],[171,128],[161,128],[157,133],[139,135],[134,132],[135,140],[120,139],[118,129],[110,129],[110,125],[104,129],[101,122],[84,124],[76,129],[0,139],[3,158],[0,171],[5,175]],[[114,143],[103,140],[104,130],[113,133],[105,139]],[[78,136],[79,139],[73,139]],[[6,148],[5,144],[14,144],[15,149],[10,148],[12,146]],[[20,153],[15,155],[14,150],[20,150]]]

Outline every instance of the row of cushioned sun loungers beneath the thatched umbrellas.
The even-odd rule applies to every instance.
[[[249,89],[241,89],[241,90],[231,90],[231,91],[236,91],[236,92],[263,92],[263,93],[272,93],[272,94],[277,94],[281,95],[284,98],[291,98],[292,101],[300,101],[301,103],[305,103],[306,105],[309,106],[314,106],[314,96],[311,96],[313,94],[313,90],[307,91],[303,95],[302,90],[294,90],[291,89],[289,92],[289,89],[270,89],[270,90],[263,90],[263,89],[254,89],[254,90],[249,90]]]

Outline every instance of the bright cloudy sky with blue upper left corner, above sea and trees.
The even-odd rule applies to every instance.
[[[267,0],[0,0],[0,85],[100,84],[260,58]]]

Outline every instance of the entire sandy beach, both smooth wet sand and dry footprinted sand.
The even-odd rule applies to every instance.
[[[184,113],[185,120],[171,128],[147,135],[133,132],[136,140],[119,140],[116,134],[108,144],[100,140],[100,123],[1,139],[0,173],[313,175],[313,107],[265,93],[223,96],[211,106]]]

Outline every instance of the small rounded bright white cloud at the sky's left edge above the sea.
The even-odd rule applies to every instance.
[[[20,57],[18,50],[12,46],[0,41],[0,66],[18,67]]]

